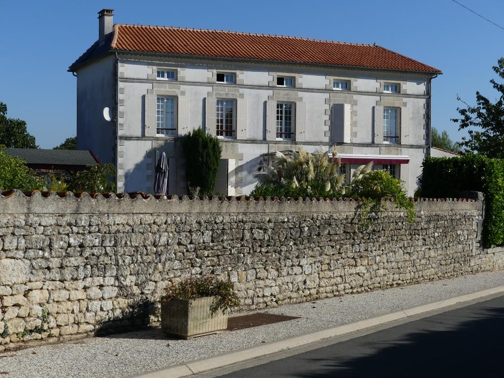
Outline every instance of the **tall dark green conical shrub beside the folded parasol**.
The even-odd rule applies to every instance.
[[[222,153],[219,140],[197,129],[182,139],[182,148],[189,194],[212,195]]]

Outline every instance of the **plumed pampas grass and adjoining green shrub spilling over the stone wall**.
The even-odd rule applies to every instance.
[[[338,152],[333,150],[332,156]],[[382,200],[392,199],[398,209],[407,213],[413,222],[413,202],[404,191],[401,180],[383,170],[371,171],[372,162],[358,167],[350,182],[339,171],[341,161],[329,159],[328,151],[307,153],[304,150],[286,156],[276,152],[271,166],[256,174],[259,183],[250,193],[252,197],[321,197],[359,198],[363,225],[369,225],[369,216],[385,211]]]

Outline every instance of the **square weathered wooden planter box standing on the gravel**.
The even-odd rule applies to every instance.
[[[213,300],[214,297],[173,298],[161,304],[161,330],[182,339],[222,332],[227,328],[228,311],[217,310],[212,316]]]

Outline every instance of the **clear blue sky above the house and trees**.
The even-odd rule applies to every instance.
[[[504,26],[504,1],[459,2]],[[27,121],[41,148],[76,135],[76,78],[67,69],[97,39],[102,8],[114,9],[116,23],[376,42],[443,71],[433,81],[432,124],[456,141],[457,94],[470,103],[476,90],[494,99],[491,67],[504,56],[504,30],[452,0],[3,1],[0,101]]]

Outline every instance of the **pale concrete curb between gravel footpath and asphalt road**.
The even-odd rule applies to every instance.
[[[474,299],[480,299],[500,293],[504,293],[504,285],[471,294],[460,295],[458,297],[445,299],[434,303],[424,304],[406,310],[391,312],[376,318],[365,319],[359,322],[345,324],[343,326],[326,328],[309,334],[294,336],[288,339],[229,352],[215,357],[209,357],[197,361],[187,362],[185,364],[170,366],[164,369],[134,375],[133,377],[180,378],[183,376],[194,375],[204,371],[217,369],[258,357],[264,357],[269,354],[282,352],[284,350],[292,349],[302,345],[320,342],[337,336],[343,336],[352,332],[383,325],[401,319],[407,319],[422,313],[444,309],[458,303],[468,302]]]

